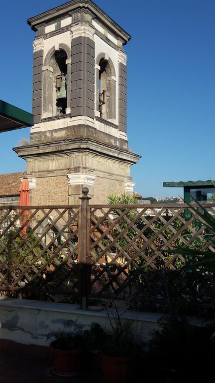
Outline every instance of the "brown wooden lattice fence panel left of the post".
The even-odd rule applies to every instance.
[[[0,290],[53,294],[75,286],[79,209],[0,208]]]

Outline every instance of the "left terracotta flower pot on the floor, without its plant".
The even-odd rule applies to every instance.
[[[83,347],[73,350],[60,350],[52,347],[54,373],[61,376],[80,374]]]

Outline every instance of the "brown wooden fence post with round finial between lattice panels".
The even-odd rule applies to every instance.
[[[88,295],[91,287],[91,256],[90,256],[90,211],[88,188],[83,188],[81,199],[81,212],[79,214],[78,234],[78,260],[79,260],[79,292],[81,297],[81,309],[88,308]]]

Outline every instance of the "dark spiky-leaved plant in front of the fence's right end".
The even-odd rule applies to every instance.
[[[199,230],[200,225],[201,227],[206,226],[206,229],[204,229],[205,234],[202,235],[204,241],[195,238],[190,245],[184,245],[183,247],[176,245],[173,249],[164,249],[162,251],[168,254],[181,254],[186,260],[186,264],[179,267],[177,273],[169,273],[170,277],[173,276],[172,284],[168,284],[168,286],[171,286],[170,292],[174,290],[174,294],[172,296],[170,294],[170,305],[173,309],[174,305],[177,307],[177,302],[180,299],[185,306],[186,303],[187,307],[194,305],[197,309],[198,306],[199,310],[203,310],[204,314],[210,314],[210,312],[214,311],[213,307],[215,305],[215,218],[198,201],[195,200],[195,202],[199,207],[194,207],[190,203],[188,205],[198,216],[198,219],[194,222],[196,231]],[[208,248],[204,249],[206,245]],[[178,282],[180,287],[178,290],[179,296],[176,290]],[[202,309],[201,304],[203,304]]]

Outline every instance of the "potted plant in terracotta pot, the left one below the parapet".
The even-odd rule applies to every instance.
[[[54,373],[60,376],[75,376],[80,373],[81,354],[84,350],[84,339],[80,332],[54,334],[50,343]]]

